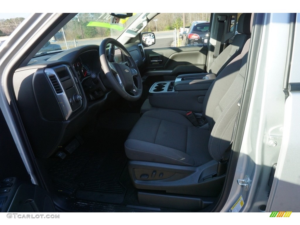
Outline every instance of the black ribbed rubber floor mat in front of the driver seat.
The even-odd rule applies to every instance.
[[[121,203],[126,188],[119,181],[126,165],[125,152],[79,151],[50,170],[54,187],[67,196],[108,203]]]

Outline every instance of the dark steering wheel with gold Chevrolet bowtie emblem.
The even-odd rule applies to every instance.
[[[108,44],[111,44],[110,48],[112,44],[117,46],[122,54],[127,57],[129,65],[110,62],[106,56],[106,47]],[[111,52],[110,54],[113,54]],[[113,38],[106,38],[100,44],[99,53],[102,69],[113,89],[128,101],[137,101],[140,99],[143,91],[141,75],[137,64],[125,47]],[[109,58],[111,57],[109,55]]]

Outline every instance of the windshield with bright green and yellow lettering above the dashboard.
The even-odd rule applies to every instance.
[[[120,19],[109,13],[78,13],[36,55],[86,44],[100,45],[105,38],[118,39],[140,15],[133,13],[131,17]]]

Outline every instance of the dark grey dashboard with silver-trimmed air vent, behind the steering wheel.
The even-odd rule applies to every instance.
[[[141,66],[139,43],[125,46]],[[124,58],[116,49],[115,59]],[[116,92],[105,77],[99,46],[85,45],[32,59],[13,76],[17,108],[32,149],[38,158],[59,154],[59,147],[95,117]],[[38,132],[37,132],[38,131]]]

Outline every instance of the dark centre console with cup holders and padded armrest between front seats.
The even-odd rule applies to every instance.
[[[214,73],[191,73],[177,76],[173,81],[161,81],[149,90],[141,113],[148,110],[165,109],[186,114],[187,111],[202,112],[205,94],[216,78]]]

